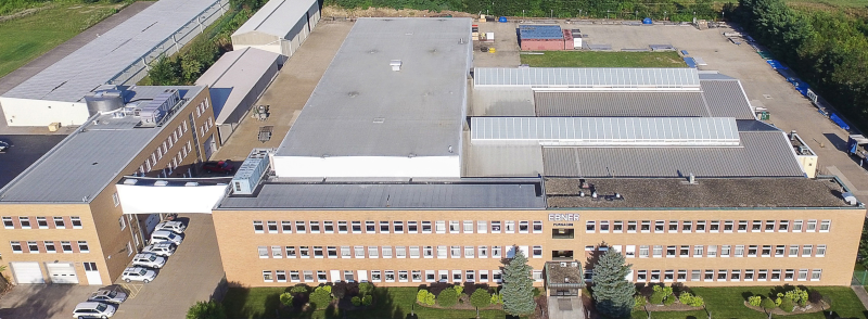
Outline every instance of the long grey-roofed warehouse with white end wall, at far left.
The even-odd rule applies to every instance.
[[[148,7],[0,97],[7,124],[84,124],[95,114],[88,111],[85,94],[122,75],[122,82],[135,85],[136,80],[126,84],[126,79],[142,78],[144,63],[158,59],[158,53],[180,49],[222,15],[228,3],[163,0]],[[143,61],[149,56],[152,60]],[[137,64],[141,65],[132,67]],[[125,74],[130,69],[137,74]]]

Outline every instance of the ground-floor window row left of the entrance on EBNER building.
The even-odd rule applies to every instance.
[[[500,270],[263,270],[265,282],[502,282]],[[490,277],[488,276],[490,273]],[[288,277],[289,275],[289,277]],[[369,277],[370,275],[370,277]],[[451,276],[450,276],[451,275]],[[542,270],[533,270],[535,281],[542,281]]]

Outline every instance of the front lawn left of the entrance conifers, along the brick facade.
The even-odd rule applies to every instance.
[[[374,290],[374,306],[366,310],[347,311],[346,314],[335,314],[333,309],[306,311],[279,310],[279,296],[285,288],[230,288],[224,299],[227,310],[227,318],[395,318],[405,319],[410,314],[410,307],[416,304],[417,288],[376,288]],[[434,309],[416,306],[416,315],[419,319],[444,318],[444,319],[472,319],[476,317],[474,310],[452,310]],[[495,319],[506,318],[506,314],[500,310],[480,311],[482,318]]]

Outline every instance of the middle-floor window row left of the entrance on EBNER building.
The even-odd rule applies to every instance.
[[[490,251],[489,251],[490,248]],[[519,246],[525,256],[542,258],[542,246]],[[258,246],[259,258],[507,258],[513,246]],[[490,254],[489,254],[490,252]]]

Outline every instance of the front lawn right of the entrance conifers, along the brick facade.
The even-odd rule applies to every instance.
[[[715,319],[765,319],[766,315],[763,312],[754,311],[745,307],[742,302],[752,294],[768,295],[770,288],[767,286],[737,286],[737,288],[693,288],[691,289],[697,295],[705,299],[705,305],[709,311],[712,312],[712,318]],[[834,311],[840,318],[868,318],[868,311],[856,297],[848,286],[819,286],[810,288],[809,290],[819,291],[821,294],[829,296],[832,301],[831,310]],[[829,314],[826,311],[825,314]],[[667,312],[651,312],[651,318],[654,319],[701,319],[707,318],[709,315],[704,310],[699,311],[667,311]],[[635,311],[633,314],[635,319],[647,318],[644,311]],[[776,316],[780,318],[780,316]],[[826,319],[824,312],[804,314],[787,316],[788,319]],[[838,317],[832,317],[838,318]]]

